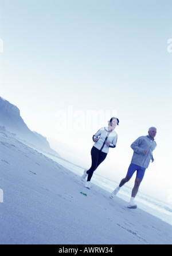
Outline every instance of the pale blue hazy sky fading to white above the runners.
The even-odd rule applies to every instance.
[[[118,145],[100,168],[116,181],[131,143],[157,127],[143,190],[172,202],[171,13],[171,0],[0,0],[0,96],[87,168],[92,135],[117,115]]]

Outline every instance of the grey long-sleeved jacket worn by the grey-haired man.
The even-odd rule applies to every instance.
[[[134,150],[131,163],[147,168],[156,146],[157,143],[154,140],[151,140],[149,135],[139,137],[131,144],[131,148]],[[146,154],[144,154],[145,149],[147,149]]]

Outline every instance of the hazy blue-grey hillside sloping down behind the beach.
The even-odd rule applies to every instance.
[[[50,148],[49,142],[41,134],[31,131],[21,118],[18,107],[0,97],[0,126],[1,130],[7,130],[30,146],[46,153],[59,156]]]

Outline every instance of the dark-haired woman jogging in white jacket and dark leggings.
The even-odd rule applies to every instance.
[[[93,135],[93,141],[95,144],[91,149],[92,165],[88,171],[84,171],[84,175],[81,177],[81,180],[84,182],[88,176],[87,183],[85,185],[87,189],[91,189],[90,180],[93,172],[105,160],[105,157],[107,157],[109,152],[109,148],[116,147],[116,141],[118,139],[118,135],[115,131],[116,125],[119,125],[119,119],[112,117],[109,121],[108,127],[101,128],[95,135]]]

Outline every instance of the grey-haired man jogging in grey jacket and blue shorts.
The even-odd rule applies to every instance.
[[[157,134],[157,129],[155,127],[150,127],[148,129],[147,136],[141,136],[136,141],[131,144],[131,148],[134,150],[132,156],[130,167],[128,168],[126,178],[122,179],[119,186],[112,192],[111,198],[119,192],[120,188],[128,182],[135,171],[137,171],[135,185],[132,189],[131,200],[127,206],[130,209],[136,209],[137,206],[134,203],[136,194],[138,193],[140,183],[143,180],[144,172],[150,164],[150,160],[153,162],[153,150],[156,148],[157,143],[154,141],[155,135]]]

